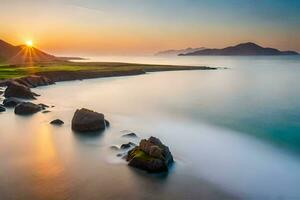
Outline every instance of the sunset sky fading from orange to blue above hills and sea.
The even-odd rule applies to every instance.
[[[204,3],[195,8],[184,4],[187,1],[175,0],[178,5],[172,10],[167,4],[156,5],[156,0],[125,1],[126,7],[120,0],[111,1],[115,4],[107,0],[4,0],[0,7],[0,38],[13,44],[33,40],[35,46],[50,53],[78,55],[151,54],[164,49],[224,47],[248,41],[300,51],[300,26],[290,23],[294,18],[289,23],[275,23],[247,13],[232,15],[231,7],[228,12],[223,9],[212,15],[211,11],[218,8]],[[131,5],[129,1],[140,4]],[[141,5],[143,2],[147,3]]]

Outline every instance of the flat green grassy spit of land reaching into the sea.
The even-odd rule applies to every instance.
[[[0,81],[30,75],[43,75],[53,81],[139,75],[156,71],[215,70],[206,66],[152,65],[118,62],[55,62],[33,65],[8,65],[0,63]]]

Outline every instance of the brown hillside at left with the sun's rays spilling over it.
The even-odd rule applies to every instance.
[[[24,64],[30,62],[52,62],[59,58],[47,54],[34,47],[26,45],[14,46],[3,40],[0,40],[0,61],[9,64]]]

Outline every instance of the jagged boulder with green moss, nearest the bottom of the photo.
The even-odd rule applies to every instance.
[[[139,146],[128,151],[126,160],[129,166],[151,173],[167,172],[174,162],[169,148],[155,137],[141,140]]]

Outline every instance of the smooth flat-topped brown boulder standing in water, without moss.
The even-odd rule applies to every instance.
[[[85,108],[76,110],[72,119],[72,129],[78,132],[94,132],[104,130],[106,122],[102,113]]]

